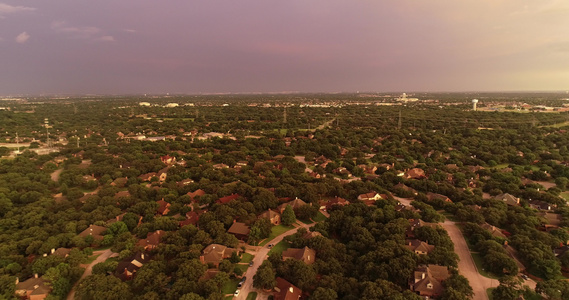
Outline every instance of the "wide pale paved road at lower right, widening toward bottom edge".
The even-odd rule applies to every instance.
[[[462,232],[460,232],[460,229],[454,222],[446,220],[442,223],[442,226],[454,243],[454,252],[459,257],[458,272],[470,282],[470,286],[474,291],[474,299],[488,299],[486,290],[491,287],[497,287],[500,283],[498,280],[484,277],[478,272],[466,240],[464,240]]]

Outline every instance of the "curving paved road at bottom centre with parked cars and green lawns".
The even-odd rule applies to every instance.
[[[255,255],[255,257],[253,258],[253,266],[249,267],[247,269],[247,272],[245,272],[244,276],[247,277],[247,280],[245,281],[245,283],[241,287],[241,292],[239,293],[239,296],[234,297],[234,299],[237,299],[237,300],[247,299],[247,295],[249,295],[250,292],[257,292],[257,299],[267,299],[268,294],[264,293],[261,290],[257,290],[256,288],[253,287],[253,276],[255,276],[259,266],[268,257],[268,253],[271,250],[267,247],[268,245],[271,245],[271,244],[276,245],[280,241],[282,241],[286,236],[295,234],[299,228],[304,227],[304,228],[308,229],[310,226],[312,226],[314,224],[304,224],[302,222],[298,222],[296,225],[299,225],[299,226],[294,228],[294,229],[291,229],[285,233],[282,233],[281,235],[277,236],[276,238],[274,238],[270,242],[268,242],[264,247],[259,247],[257,249],[257,251],[253,251],[254,253],[251,253],[251,254]]]

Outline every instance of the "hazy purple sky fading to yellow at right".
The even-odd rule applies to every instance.
[[[565,90],[567,0],[0,0],[0,95]]]

